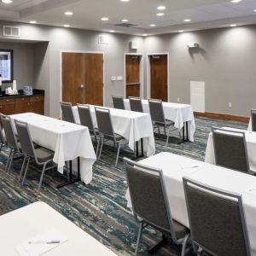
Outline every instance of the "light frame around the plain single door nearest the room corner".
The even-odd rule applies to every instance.
[[[170,85],[170,73],[169,73],[169,67],[170,67],[170,58],[169,58],[169,52],[157,52],[157,53],[148,53],[147,54],[147,97],[148,99],[151,98],[151,79],[150,79],[150,56],[152,55],[167,55],[167,101],[170,102],[170,95],[169,95],[169,85]]]

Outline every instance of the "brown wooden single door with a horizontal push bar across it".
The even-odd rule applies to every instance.
[[[125,56],[125,90],[126,97],[140,96],[140,56],[126,55]]]

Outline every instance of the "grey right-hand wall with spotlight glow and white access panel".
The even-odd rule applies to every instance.
[[[188,42],[199,43],[201,49],[189,50]],[[144,53],[159,52],[169,53],[171,102],[179,97],[189,103],[189,84],[194,80],[206,82],[207,112],[248,116],[249,109],[256,108],[256,26],[146,38]]]

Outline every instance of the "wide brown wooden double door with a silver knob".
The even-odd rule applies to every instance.
[[[62,101],[103,105],[103,55],[62,53]]]

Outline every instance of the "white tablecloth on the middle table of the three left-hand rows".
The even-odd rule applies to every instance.
[[[95,107],[90,105],[90,112],[93,123],[96,126]],[[154,154],[154,133],[151,117],[148,113],[137,113],[122,109],[110,109],[111,119],[113,123],[113,131],[129,141],[129,147],[134,150],[135,143],[143,138],[143,146],[147,156]],[[73,114],[76,123],[80,124],[79,111],[77,107],[73,107]]]

